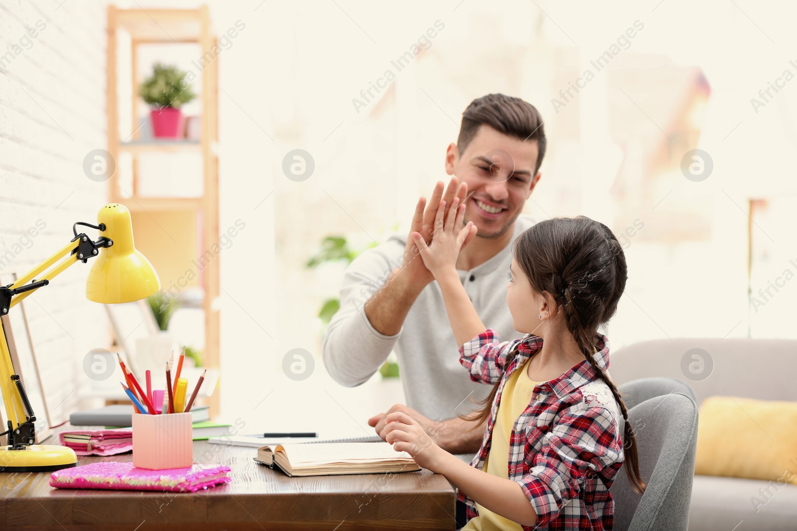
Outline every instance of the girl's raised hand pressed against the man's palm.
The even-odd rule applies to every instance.
[[[471,232],[475,233],[477,230],[472,221],[462,227],[462,222],[465,219],[465,205],[459,204],[459,197],[454,197],[448,217],[444,221],[445,212],[446,201],[441,201],[434,220],[431,244],[427,245],[426,240],[419,232],[412,233],[415,245],[421,252],[423,264],[436,279],[442,274],[451,272],[456,274],[457,256],[459,256],[462,244],[465,243]]]

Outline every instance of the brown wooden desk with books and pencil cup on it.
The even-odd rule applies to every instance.
[[[49,472],[0,474],[0,529],[455,528],[453,487],[429,470],[289,478],[255,463],[255,453],[253,448],[194,441],[194,463],[224,463],[233,478],[194,494],[53,489]],[[132,454],[78,459],[78,465],[132,461]]]

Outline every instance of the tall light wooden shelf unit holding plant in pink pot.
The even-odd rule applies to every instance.
[[[121,203],[130,209],[134,215],[152,217],[151,213],[186,213],[195,214],[197,225],[201,228],[198,237],[198,255],[211,246],[218,244],[218,57],[206,68],[202,69],[202,91],[198,95],[201,100],[201,131],[198,141],[184,139],[132,139],[120,138],[120,100],[118,87],[117,50],[119,47],[118,33],[124,29],[131,38],[131,64],[123,68],[131,68],[132,72],[132,123],[137,123],[139,106],[136,64],[137,49],[139,45],[174,45],[183,43],[198,44],[201,53],[212,53],[210,49],[217,45],[218,40],[210,33],[210,13],[207,6],[198,9],[134,9],[120,10],[116,6],[108,6],[108,151],[119,162],[120,154],[125,152],[133,154],[159,153],[180,154],[198,153],[202,156],[202,197],[147,197],[139,196],[137,190],[137,168],[133,162],[132,191],[122,190],[120,187],[120,171],[109,179],[108,195],[111,201]],[[135,125],[133,126],[135,127]],[[126,141],[125,141],[126,140]],[[157,222],[155,222],[157,223]],[[136,240],[141,238],[138,231]],[[145,253],[146,254],[146,253]],[[163,284],[163,280],[162,284]],[[202,365],[218,369],[219,365],[219,315],[214,301],[219,296],[219,264],[218,259],[210,261],[202,269],[202,288],[204,290],[203,310],[205,313],[205,349],[202,353]],[[162,286],[165,287],[165,286]],[[218,414],[219,389],[217,388],[207,402],[210,405],[210,415]]]

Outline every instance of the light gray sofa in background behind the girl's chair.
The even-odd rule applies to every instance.
[[[689,384],[700,405],[707,396],[797,401],[797,341],[787,339],[658,339],[611,354],[618,385],[646,377]],[[764,506],[760,489],[771,493]],[[794,531],[797,485],[715,476],[694,477],[689,531]]]

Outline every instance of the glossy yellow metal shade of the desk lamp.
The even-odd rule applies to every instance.
[[[144,299],[160,289],[155,268],[133,245],[130,211],[111,203],[97,213],[97,223],[104,224],[102,236],[113,241],[100,249],[86,279],[86,297],[95,303],[129,303]]]

